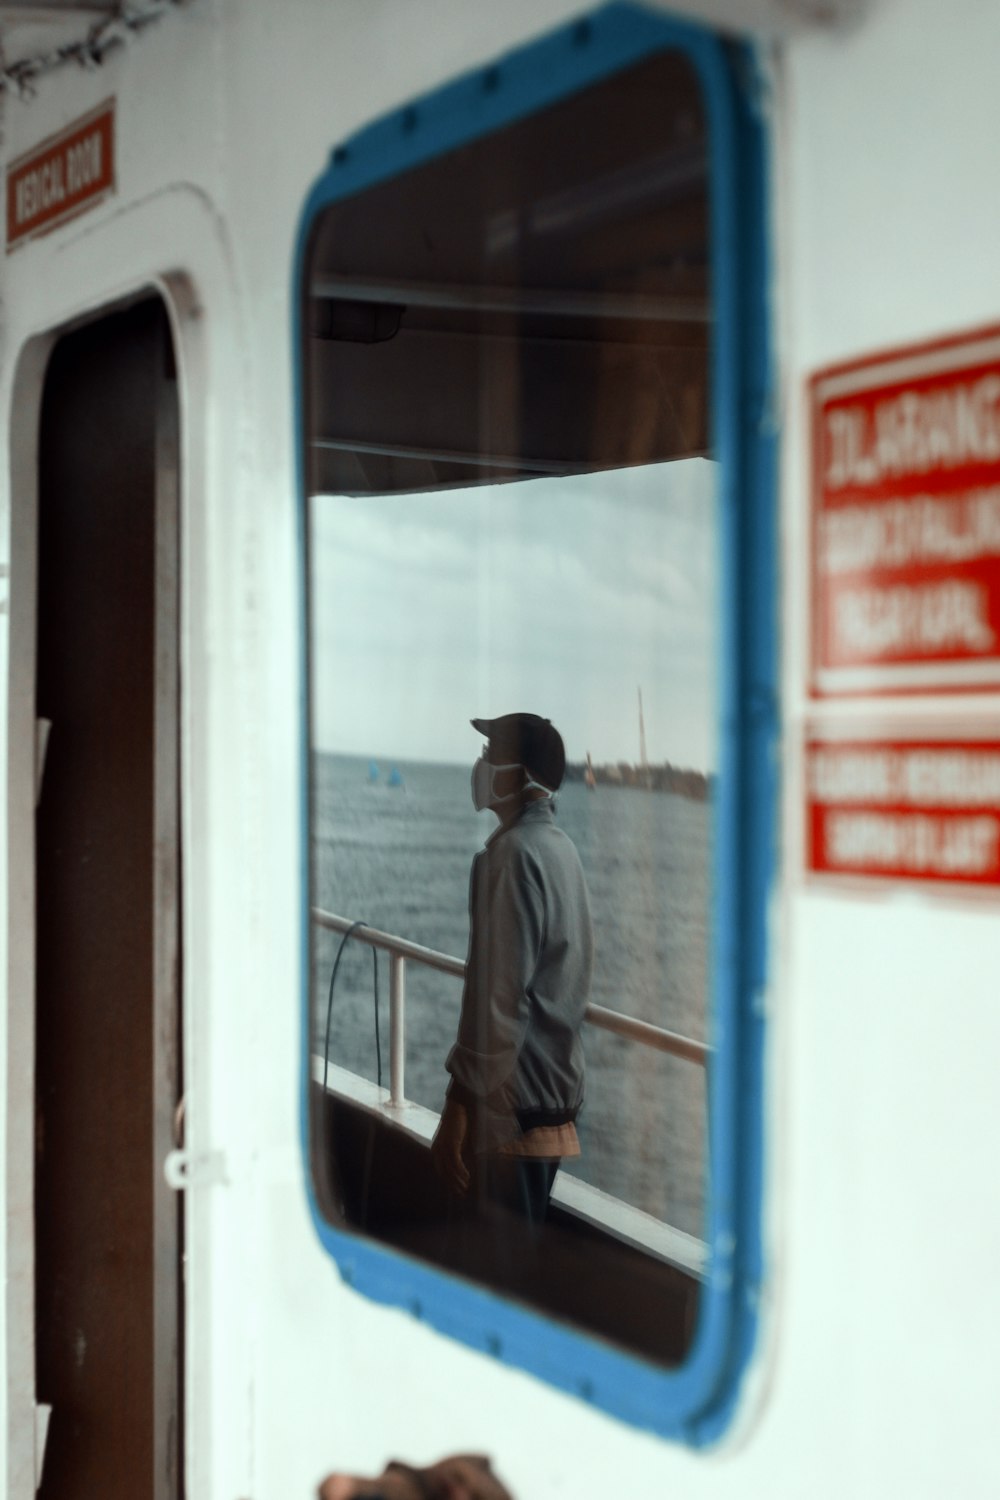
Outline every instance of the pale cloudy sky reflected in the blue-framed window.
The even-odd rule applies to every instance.
[[[469,764],[469,718],[556,724],[570,760],[715,770],[715,465],[312,500],[313,738]]]

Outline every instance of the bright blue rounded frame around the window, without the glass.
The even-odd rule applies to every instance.
[[[762,1260],[765,906],[774,876],[775,438],[769,424],[766,140],[750,50],[694,26],[613,4],[498,64],[394,111],[337,147],[303,210],[294,270],[300,544],[306,554],[301,308],[310,231],[322,210],[607,80],[663,51],[697,72],[709,124],[715,334],[711,440],[720,465],[720,764],[715,802],[709,1088],[709,1264],[685,1362],[657,1370],[487,1290],[331,1224],[316,1232],[360,1293],[532,1371],[597,1407],[691,1444],[717,1438],[754,1346]],[[304,562],[303,562],[304,578]],[[303,590],[304,594],[304,590]],[[303,603],[301,992],[303,1142],[309,1156],[309,706]],[[309,1173],[307,1173],[309,1179]],[[310,1179],[309,1179],[310,1180]]]

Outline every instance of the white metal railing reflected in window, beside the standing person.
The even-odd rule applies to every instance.
[[[438,969],[439,974],[450,974],[456,980],[465,978],[465,963],[448,952],[436,952],[424,948],[418,942],[406,938],[396,938],[393,933],[379,932],[378,927],[367,927],[351,921],[349,916],[334,916],[313,906],[312,920],[318,927],[325,927],[333,933],[351,933],[358,942],[369,948],[381,948],[388,952],[388,1102],[399,1107],[406,1102],[406,960],[423,963],[427,969]],[[352,930],[354,928],[354,930]],[[673,1058],[684,1058],[699,1066],[708,1064],[711,1047],[693,1036],[681,1036],[679,1032],[666,1030],[651,1022],[636,1020],[633,1016],[622,1016],[621,1011],[610,1011],[604,1005],[588,1005],[585,1020],[601,1030],[615,1032],[628,1041],[639,1042],[640,1047],[652,1047],[655,1052],[670,1053]]]

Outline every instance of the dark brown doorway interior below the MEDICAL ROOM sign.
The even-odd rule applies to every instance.
[[[180,1488],[177,398],[162,303],[54,346],[39,434],[40,1494]],[[165,1138],[166,1136],[166,1138]]]

